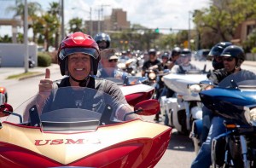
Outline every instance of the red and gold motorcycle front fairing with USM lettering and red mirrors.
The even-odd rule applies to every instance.
[[[0,108],[0,113],[10,114],[0,129],[0,167],[154,167],[171,138],[172,128],[165,125],[142,119],[125,121],[125,117],[124,121],[110,119],[113,106],[105,107],[103,113],[57,109],[39,114],[35,125],[32,113],[39,113],[35,100],[14,113],[8,104]],[[27,109],[30,119],[23,113]],[[159,112],[160,105],[147,100],[134,109],[126,114],[152,115]]]

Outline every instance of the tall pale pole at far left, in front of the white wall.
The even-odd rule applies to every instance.
[[[25,47],[25,52],[24,52],[24,68],[25,72],[28,72],[28,42],[27,42],[27,2],[25,0],[25,5],[24,5],[24,47]]]

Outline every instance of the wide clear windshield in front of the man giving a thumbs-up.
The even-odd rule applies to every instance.
[[[101,90],[63,87],[33,96],[10,114],[6,121],[42,127],[47,131],[95,130],[136,119],[126,102],[120,102]]]

